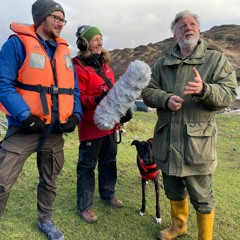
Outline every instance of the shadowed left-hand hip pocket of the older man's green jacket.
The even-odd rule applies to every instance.
[[[166,121],[158,121],[154,129],[153,155],[154,157],[165,162],[168,158],[169,149],[169,124]]]

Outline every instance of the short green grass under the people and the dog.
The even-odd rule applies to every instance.
[[[240,116],[220,114],[218,167],[214,175],[214,192],[217,199],[214,225],[215,240],[239,239],[239,156]],[[98,188],[94,195],[94,212],[98,221],[83,222],[76,213],[76,164],[78,158],[77,132],[65,141],[65,165],[58,177],[58,195],[54,206],[54,220],[66,240],[135,240],[156,239],[158,232],[171,223],[169,202],[161,189],[161,214],[163,223],[155,222],[155,193],[153,183],[147,186],[146,216],[138,215],[141,207],[141,179],[136,165],[136,151],[132,140],[145,140],[153,135],[155,113],[135,112],[125,128],[126,135],[118,145],[118,181],[116,196],[123,200],[122,209],[113,209],[100,202]],[[38,174],[35,155],[27,161],[12,188],[7,210],[0,219],[0,240],[46,239],[37,229],[36,186]],[[188,229],[184,239],[197,239],[195,211],[190,206]]]

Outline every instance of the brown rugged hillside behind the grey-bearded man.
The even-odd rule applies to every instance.
[[[240,85],[240,25],[221,25],[202,32],[210,48],[217,49],[226,54],[236,69]],[[149,43],[136,48],[115,49],[111,51],[111,66],[115,72],[116,80],[125,72],[128,64],[136,59],[143,60],[150,66],[175,44],[174,38],[161,42]]]

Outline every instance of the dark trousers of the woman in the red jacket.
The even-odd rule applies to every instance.
[[[77,164],[77,209],[92,209],[95,190],[95,167],[98,164],[98,185],[101,199],[114,197],[117,181],[117,144],[113,135],[81,142]]]

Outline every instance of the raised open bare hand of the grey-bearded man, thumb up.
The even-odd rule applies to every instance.
[[[184,87],[185,91],[183,93],[186,95],[189,95],[189,94],[202,95],[203,82],[202,82],[201,76],[199,75],[195,67],[193,67],[192,70],[194,73],[193,82],[189,82],[188,85]]]

